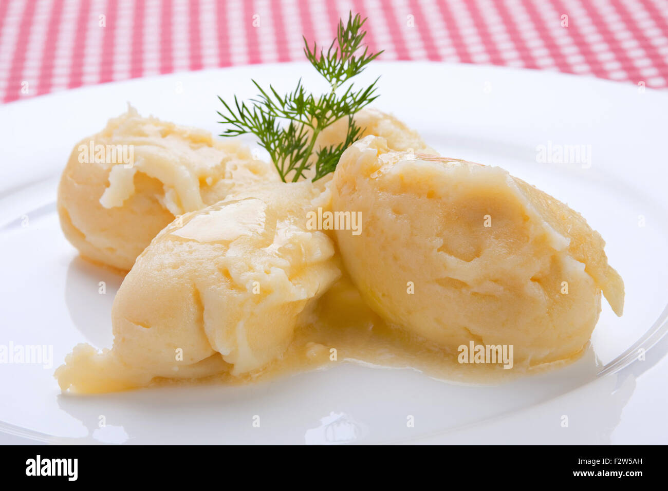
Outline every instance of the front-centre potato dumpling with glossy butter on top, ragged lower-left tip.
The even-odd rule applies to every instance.
[[[61,389],[236,376],[281,357],[302,311],[341,275],[333,240],[307,226],[309,211],[331,209],[328,180],[259,185],[174,220],[114,299],[113,349],[75,347],[56,371]]]

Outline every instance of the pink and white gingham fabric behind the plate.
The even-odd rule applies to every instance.
[[[668,0],[0,0],[0,100],[158,73],[302,61],[339,17],[381,59],[668,87]]]

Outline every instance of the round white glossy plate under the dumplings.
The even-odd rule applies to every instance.
[[[53,367],[0,364],[0,442],[668,442],[668,94],[546,71],[372,65],[363,78],[382,75],[376,106],[442,154],[505,167],[587,217],[625,280],[624,317],[604,302],[580,361],[496,387],[340,363],[248,387],[61,395],[53,369],[73,345],[111,345],[121,281],[79,259],[60,231],[56,184],[73,144],[126,102],[219,133],[216,95],[254,96],[251,77],[279,90],[300,75],[314,90],[323,85],[311,67],[290,63],[63,92],[0,107],[0,345],[53,346]],[[591,167],[538,163],[536,148],[548,142],[591,146]],[[645,361],[639,348],[649,350]]]

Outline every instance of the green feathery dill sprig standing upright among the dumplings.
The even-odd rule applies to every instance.
[[[353,84],[343,88],[347,81],[359,75],[382,53],[369,53],[367,46],[361,51],[366,35],[362,27],[366,20],[359,14],[353,17],[352,13],[347,24],[339,20],[337,38],[327,51],[322,48],[318,51],[316,43],[311,49],[303,37],[304,53],[311,65],[327,80],[330,92],[314,96],[307,92],[299,79],[293,92],[281,96],[273,86],[265,90],[252,80],[260,93],[249,104],[240,102],[236,96],[234,104],[227,104],[218,97],[226,110],[225,113],[218,112],[222,117],[220,123],[228,126],[220,136],[248,133],[257,136],[258,144],[269,152],[283,182],[297,182],[314,165],[313,180],[333,172],[343,151],[362,132],[355,125],[353,115],[378,97],[375,94],[378,79],[365,89],[355,90]],[[348,120],[345,140],[315,149],[318,135],[341,118]]]

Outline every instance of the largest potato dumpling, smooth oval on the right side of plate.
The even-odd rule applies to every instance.
[[[341,259],[387,321],[456,353],[514,345],[515,363],[574,357],[624,285],[580,214],[505,170],[390,150],[367,136],[341,157],[334,212]]]

